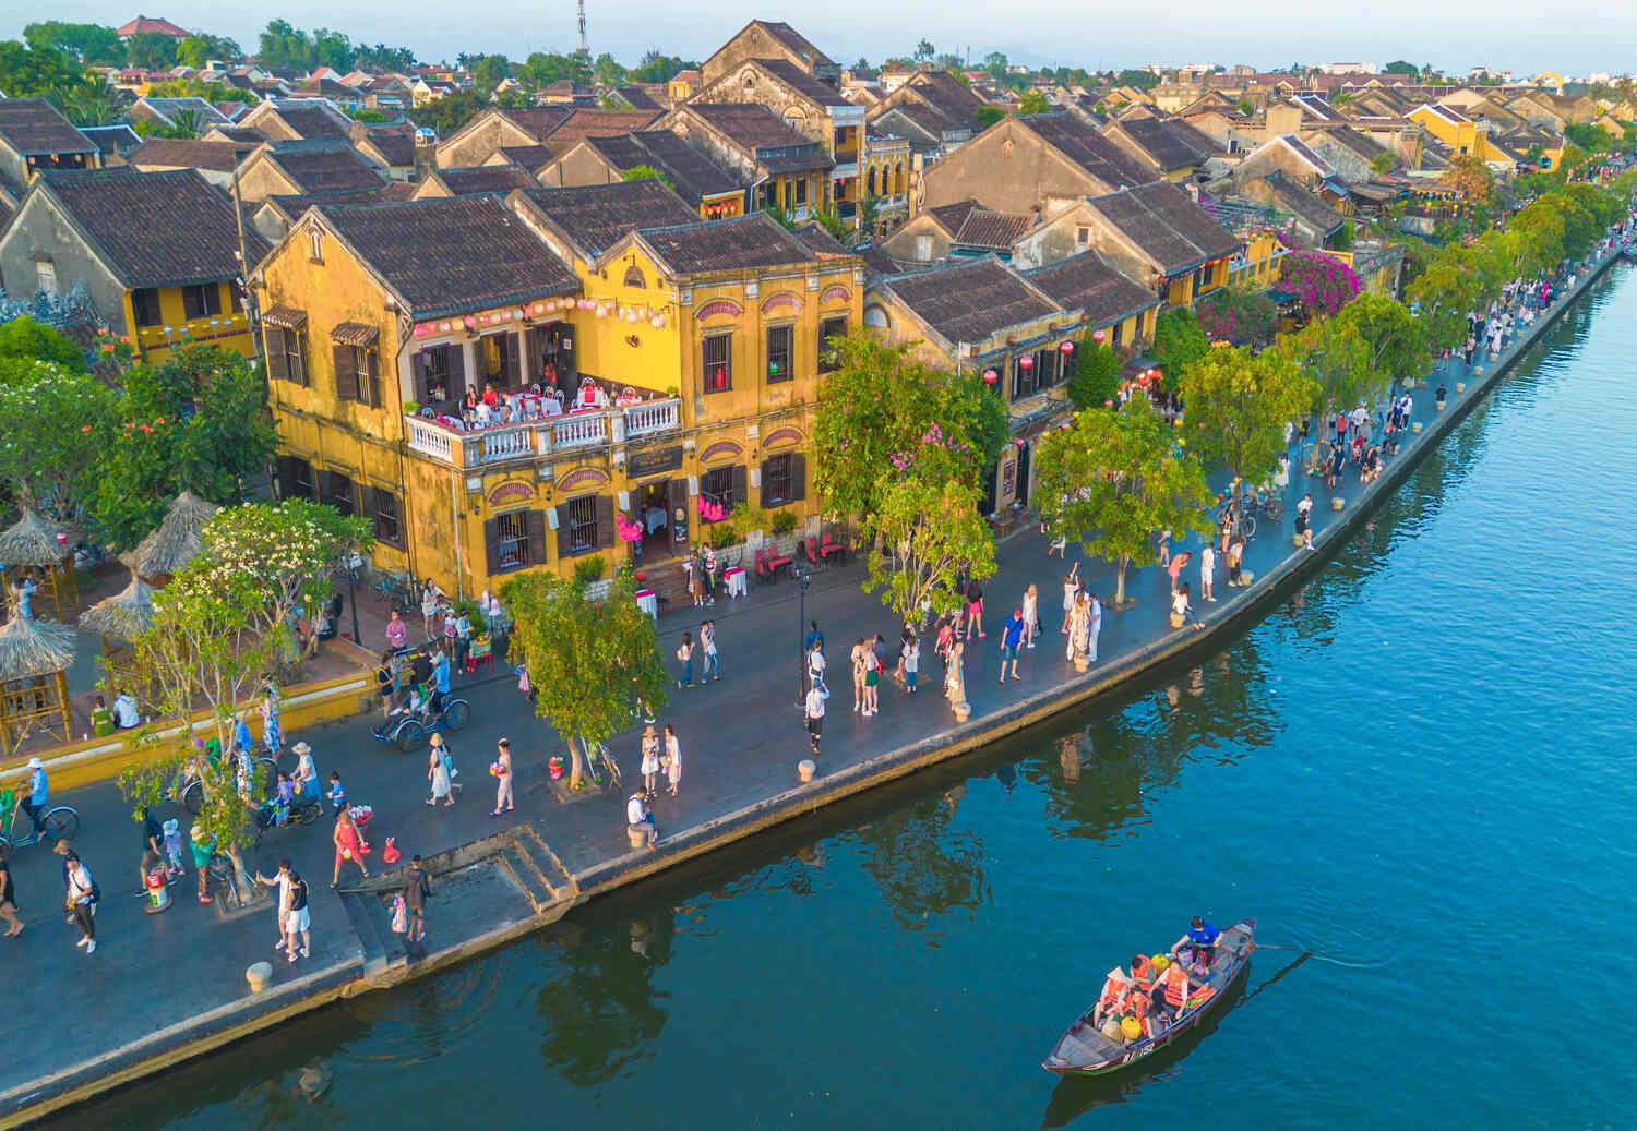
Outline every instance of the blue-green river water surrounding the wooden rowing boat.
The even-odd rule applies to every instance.
[[[75,1124],[1629,1124],[1634,357],[1617,268],[1220,655]],[[1044,1074],[1192,912],[1293,949]]]

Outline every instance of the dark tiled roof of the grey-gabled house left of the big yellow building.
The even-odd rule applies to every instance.
[[[38,182],[128,288],[185,286],[239,275],[232,203],[198,173],[131,169],[44,172]],[[244,232],[250,262],[267,252]]]

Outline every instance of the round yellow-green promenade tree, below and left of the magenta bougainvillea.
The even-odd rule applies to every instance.
[[[1179,386],[1195,455],[1224,466],[1236,493],[1244,480],[1260,480],[1272,470],[1285,448],[1285,426],[1313,398],[1311,378],[1283,345],[1256,355],[1213,349],[1184,370]]]

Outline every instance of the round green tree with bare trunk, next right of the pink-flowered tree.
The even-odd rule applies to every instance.
[[[1159,561],[1159,532],[1208,534],[1213,502],[1205,473],[1146,404],[1079,412],[1035,453],[1039,516],[1089,555],[1115,563],[1115,607],[1128,604],[1130,565]]]

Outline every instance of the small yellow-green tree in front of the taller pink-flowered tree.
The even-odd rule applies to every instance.
[[[882,484],[869,525],[884,553],[869,555],[864,589],[879,593],[899,620],[954,612],[961,606],[956,579],[966,570],[987,581],[995,573],[995,535],[977,512],[977,489],[946,478],[943,437],[900,452],[897,475]]]

